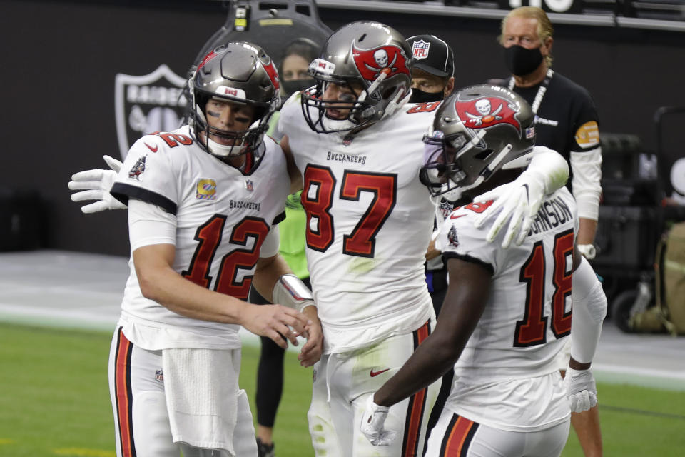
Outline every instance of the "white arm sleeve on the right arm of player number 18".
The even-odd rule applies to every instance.
[[[607,297],[602,291],[602,283],[585,258],[581,258],[580,265],[573,272],[571,296],[571,356],[580,363],[590,363],[597,351],[602,321],[607,315]]]

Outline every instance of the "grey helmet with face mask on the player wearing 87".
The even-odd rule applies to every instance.
[[[310,128],[351,131],[392,115],[409,99],[410,56],[402,35],[384,24],[359,21],[336,31],[309,66],[317,81],[302,94]],[[339,94],[355,94],[355,100],[331,99],[330,84],[345,88]]]

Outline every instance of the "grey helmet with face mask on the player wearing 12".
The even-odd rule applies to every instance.
[[[189,124],[196,134],[203,134],[198,144],[221,158],[258,149],[269,119],[280,103],[278,72],[263,49],[245,41],[218,46],[198,65],[188,86],[191,92]],[[216,113],[208,114],[210,101],[238,109],[236,118],[253,114],[248,128],[226,130],[210,125],[210,118],[217,116]],[[239,106],[250,109],[240,113]]]

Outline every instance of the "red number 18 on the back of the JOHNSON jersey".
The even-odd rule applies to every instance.
[[[567,297],[572,288],[573,231],[565,231],[554,238],[552,261],[552,333],[556,338],[571,333],[572,311],[566,312]],[[519,281],[526,283],[524,316],[516,323],[514,347],[528,347],[547,342],[547,316],[544,316],[545,264],[547,257],[542,241],[534,244],[528,260],[521,267]]]

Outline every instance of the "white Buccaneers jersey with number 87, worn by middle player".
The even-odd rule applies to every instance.
[[[307,263],[326,353],[414,331],[435,314],[423,267],[435,204],[419,170],[439,105],[407,104],[351,141],[312,131],[299,103],[280,113],[303,175]]]

